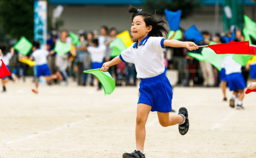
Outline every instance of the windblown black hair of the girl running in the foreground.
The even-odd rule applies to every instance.
[[[168,35],[168,31],[164,27],[164,24],[167,25],[167,23],[162,18],[155,19],[151,14],[146,12],[139,12],[139,9],[131,5],[128,9],[128,13],[132,13],[131,22],[136,16],[144,17],[144,22],[146,23],[146,26],[152,26],[151,31],[148,33],[149,36],[163,37]]]

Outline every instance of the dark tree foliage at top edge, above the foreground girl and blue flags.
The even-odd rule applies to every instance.
[[[182,10],[182,18],[192,15],[195,8],[200,7],[202,0],[146,0],[144,3],[145,10],[157,10],[157,14],[164,15],[164,10],[176,12]]]

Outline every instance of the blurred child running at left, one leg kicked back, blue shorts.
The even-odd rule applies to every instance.
[[[39,84],[39,77],[45,76],[46,81],[52,81],[54,79],[61,78],[61,75],[56,72],[54,75],[51,75],[48,63],[47,63],[47,56],[49,55],[49,51],[40,49],[40,43],[37,41],[32,41],[32,51],[30,60],[32,61],[33,58],[36,63],[36,80],[35,80],[35,88],[32,89],[32,92],[38,93],[38,84]],[[54,53],[54,52],[53,52]]]

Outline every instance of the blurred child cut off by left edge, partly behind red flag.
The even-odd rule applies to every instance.
[[[9,63],[10,63],[10,60],[11,60],[12,56],[14,55],[14,48],[13,47],[11,48],[11,52],[7,52],[7,45],[5,45],[5,44],[1,45],[0,48],[3,51],[3,55],[1,56],[1,58],[4,62],[4,64],[6,65],[6,67],[8,68],[8,70],[10,71]],[[13,77],[11,75],[2,78],[2,85],[3,85],[3,91],[2,92],[6,92],[5,85],[10,80],[14,81]]]

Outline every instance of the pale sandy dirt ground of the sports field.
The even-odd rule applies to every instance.
[[[136,149],[136,87],[104,96],[96,87],[8,83],[0,94],[0,157],[122,157]],[[227,90],[230,98],[231,92]],[[175,87],[173,109],[186,107],[189,131],[146,124],[146,157],[256,157],[256,94],[244,110],[222,101],[220,88]]]

